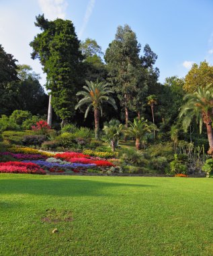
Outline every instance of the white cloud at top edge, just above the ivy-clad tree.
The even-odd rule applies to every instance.
[[[65,19],[68,5],[66,0],[38,0],[38,4],[49,20]]]

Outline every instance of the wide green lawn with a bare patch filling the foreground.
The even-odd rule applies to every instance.
[[[213,255],[213,179],[0,174],[0,194],[0,255]]]

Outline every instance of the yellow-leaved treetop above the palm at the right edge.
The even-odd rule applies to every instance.
[[[198,64],[194,63],[191,70],[185,76],[183,90],[186,92],[195,92],[198,87],[205,87],[207,84],[213,84],[213,67],[206,61]]]

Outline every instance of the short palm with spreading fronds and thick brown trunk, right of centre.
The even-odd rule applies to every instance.
[[[144,138],[146,133],[151,133],[152,130],[157,130],[156,125],[144,120],[143,117],[141,119],[135,118],[133,123],[129,122],[129,125],[130,126],[125,133],[135,138],[135,146],[137,150],[140,150],[142,138]]]

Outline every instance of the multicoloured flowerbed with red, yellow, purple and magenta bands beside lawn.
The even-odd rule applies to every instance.
[[[13,147],[11,151],[0,154],[12,156],[22,162],[0,163],[0,172],[38,174],[44,174],[44,170],[48,172],[86,172],[87,168],[97,167],[100,170],[107,170],[105,168],[114,166],[112,162],[91,158],[87,154],[77,152],[48,154],[48,152],[24,147]],[[48,158],[48,156],[50,157]]]

